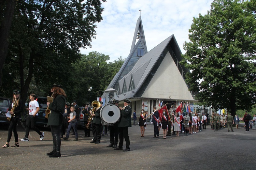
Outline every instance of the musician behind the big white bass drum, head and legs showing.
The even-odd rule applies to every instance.
[[[113,99],[112,101],[109,102],[110,104],[114,104],[118,106],[119,101],[116,99]],[[120,108],[119,108],[120,109]],[[117,142],[118,142],[118,122],[114,123],[113,126],[109,126],[109,134],[110,134],[110,144],[107,146],[112,147],[112,148],[117,148]]]

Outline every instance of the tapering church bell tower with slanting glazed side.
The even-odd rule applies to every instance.
[[[125,75],[127,75],[132,70],[133,66],[137,63],[137,61],[140,59],[140,57],[143,56],[143,55],[138,56],[138,51],[137,51],[138,49],[143,50],[143,55],[147,53],[147,46],[146,46],[146,40],[145,40],[144,30],[142,26],[141,16],[137,20],[130,54],[124,61],[118,73],[114,76],[113,80],[110,82],[107,89],[113,88],[115,90],[118,90],[118,93],[119,92],[122,93],[124,81],[121,82],[122,86],[119,86],[119,80],[122,79]],[[128,86],[127,89],[129,89],[129,85],[127,86]],[[106,93],[103,93],[101,97],[105,98]]]

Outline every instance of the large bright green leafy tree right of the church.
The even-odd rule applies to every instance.
[[[183,64],[196,99],[213,108],[251,110],[256,102],[256,1],[214,0],[193,19]]]

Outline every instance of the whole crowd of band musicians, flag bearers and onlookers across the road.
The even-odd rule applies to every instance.
[[[77,134],[77,118],[79,116],[80,110],[79,106],[76,105],[76,101],[73,101],[72,106],[70,103],[66,103],[65,101],[65,91],[62,89],[61,85],[54,84],[51,89],[53,102],[47,102],[47,106],[50,110],[48,123],[47,125],[51,127],[51,132],[53,136],[53,150],[46,155],[49,157],[60,157],[60,145],[61,138],[63,140],[68,140],[70,131],[73,130],[72,134],[75,135],[74,141],[78,140]],[[20,91],[13,91],[13,100],[9,107],[10,112],[10,126],[8,129],[8,138],[6,143],[2,146],[2,148],[8,148],[10,146],[10,140],[12,137],[12,132],[14,134],[15,143],[11,147],[19,147],[18,142],[18,134],[17,134],[17,122],[23,112],[23,102],[20,99]],[[20,141],[29,141],[29,131],[30,128],[37,132],[40,136],[40,140],[44,139],[44,132],[41,132],[36,126],[38,112],[39,112],[39,104],[35,100],[36,95],[30,94],[30,103],[29,108],[27,108],[29,115],[26,120],[26,128],[25,128],[25,137]],[[130,139],[128,134],[128,127],[131,127],[131,101],[129,99],[125,99],[124,107],[118,107],[119,101],[113,99],[110,101],[110,104],[116,105],[120,110],[120,119],[113,123],[109,124],[109,126],[102,126],[102,118],[100,116],[100,110],[102,108],[102,102],[98,101],[99,104],[97,107],[93,107],[93,109],[89,108],[89,103],[85,103],[85,107],[82,110],[84,114],[84,137],[91,137],[90,128],[92,129],[93,139],[90,143],[98,144],[100,143],[101,136],[104,136],[107,129],[109,129],[110,134],[110,144],[106,147],[114,148],[114,150],[123,150],[130,151]],[[159,131],[162,128],[163,139],[166,139],[167,136],[171,136],[171,134],[179,137],[181,133],[188,136],[189,134],[196,134],[201,132],[202,129],[206,129],[206,125],[210,125],[211,129],[214,132],[228,127],[228,132],[234,132],[232,125],[235,124],[236,128],[239,125],[239,117],[235,115],[233,118],[231,113],[226,115],[219,115],[218,113],[212,113],[210,116],[207,114],[193,113],[193,112],[175,112],[171,110],[162,110],[162,118],[160,119],[160,114],[156,107],[153,107],[153,113],[151,123],[154,125],[154,138],[159,138]],[[136,111],[133,112],[133,125],[135,125],[135,121],[137,118]],[[149,115],[150,116],[150,115]],[[140,118],[139,118],[139,127],[141,132],[141,137],[145,136],[146,130],[146,118],[148,117],[147,111],[144,109],[141,110]],[[244,114],[243,120],[245,122],[245,132],[248,132],[250,129],[256,129],[256,117],[255,114],[251,117],[250,114],[247,114],[247,111]],[[104,127],[105,126],[105,127]],[[66,133],[67,129],[67,133]],[[66,133],[66,136],[65,136]],[[63,137],[65,136],[65,137]],[[119,139],[119,145],[118,144]],[[126,147],[123,149],[124,139],[126,142]]]

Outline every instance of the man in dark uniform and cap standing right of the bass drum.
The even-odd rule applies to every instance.
[[[129,106],[131,101],[126,98],[124,101],[124,107],[121,109],[121,118],[118,123],[119,127],[119,146],[114,150],[123,150],[124,138],[126,142],[126,148],[124,152],[130,151],[130,139],[128,134],[128,127],[131,127],[131,107]]]

